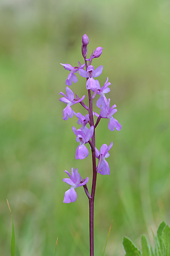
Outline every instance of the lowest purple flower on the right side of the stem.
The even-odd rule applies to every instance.
[[[113,142],[107,147],[106,144],[103,144],[99,150],[96,148],[96,157],[99,159],[99,166],[97,172],[100,173],[101,175],[109,175],[110,174],[110,169],[107,161],[105,158],[109,157],[108,151],[112,148]]]

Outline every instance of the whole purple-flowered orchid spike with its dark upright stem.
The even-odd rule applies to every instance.
[[[111,150],[113,146],[113,141],[109,146],[103,144],[100,147],[100,151],[96,148],[95,143],[95,130],[100,122],[101,118],[109,119],[108,129],[110,131],[121,130],[121,124],[113,117],[116,113],[116,105],[114,104],[110,108],[111,99],[107,99],[105,94],[110,91],[108,82],[108,77],[103,87],[100,87],[99,81],[95,79],[99,77],[103,71],[103,66],[99,66],[96,69],[91,65],[91,62],[94,58],[100,57],[103,47],[97,47],[94,52],[91,53],[89,59],[87,59],[87,45],[89,44],[89,38],[86,34],[82,36],[82,56],[84,58],[84,64],[81,65],[79,62],[79,66],[72,67],[70,64],[62,64],[66,70],[69,70],[70,73],[67,76],[65,84],[68,86],[73,83],[78,82],[78,78],[75,74],[79,73],[80,76],[86,78],[86,89],[88,94],[88,106],[83,102],[85,95],[81,98],[78,97],[77,94],[74,95],[73,91],[70,87],[66,86],[66,95],[63,92],[60,94],[63,96],[60,98],[60,101],[66,104],[66,107],[63,110],[63,119],[67,120],[72,118],[73,116],[78,118],[77,123],[80,125],[79,129],[76,129],[74,126],[72,130],[76,135],[76,141],[79,143],[79,146],[75,150],[75,159],[84,159],[88,157],[89,150],[86,147],[86,144],[89,143],[91,154],[92,154],[92,187],[91,193],[89,193],[87,182],[89,178],[81,179],[81,175],[78,172],[78,169],[73,167],[71,168],[71,174],[65,170],[65,173],[69,175],[69,178],[63,179],[68,185],[71,186],[69,190],[65,192],[64,195],[64,203],[71,203],[77,200],[77,192],[75,188],[83,187],[84,191],[89,200],[89,237],[90,237],[90,256],[94,256],[94,199],[95,199],[95,190],[96,190],[96,179],[97,173],[101,175],[109,175],[110,169],[106,158],[109,157],[109,150]],[[96,102],[97,107],[99,108],[99,114],[93,112],[93,100],[95,97],[99,95],[99,98]],[[75,113],[72,109],[72,106],[76,103],[80,103],[81,106],[87,110],[86,116],[83,116],[81,113]],[[96,122],[94,122],[94,117],[96,116]],[[88,127],[90,126],[90,127]],[[98,164],[96,164],[96,158],[98,159]]]

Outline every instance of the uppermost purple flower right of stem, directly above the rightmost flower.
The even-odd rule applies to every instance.
[[[108,82],[108,77],[107,77],[106,82],[103,87],[100,88],[100,84],[99,84],[98,80],[96,80],[96,85],[97,85],[97,89],[95,89],[95,90],[97,90],[97,94],[100,95],[100,98],[96,102],[96,106],[98,108],[100,108],[100,106],[107,105],[107,98],[105,96],[105,93],[108,93],[109,91],[111,91],[111,89],[108,88],[108,86],[111,85],[111,83]],[[95,91],[95,90],[92,90],[92,91]]]

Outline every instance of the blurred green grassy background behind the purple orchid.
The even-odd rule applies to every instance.
[[[78,188],[77,201],[63,204],[69,186],[62,179],[78,167],[90,188],[91,156],[75,160],[77,118],[63,121],[58,95],[68,75],[60,62],[83,63],[83,34],[88,56],[104,48],[92,65],[104,66],[99,82],[109,77],[107,98],[122,124],[111,132],[103,119],[96,130],[98,148],[114,146],[111,175],[97,178],[95,253],[102,255],[112,219],[106,256],[124,255],[123,236],[140,247],[141,234],[152,241],[150,226],[156,232],[170,223],[169,17],[164,0],[0,1],[0,255],[10,255],[6,198],[16,255],[54,255],[57,237],[58,256],[89,254],[87,197]],[[84,78],[71,89],[87,93]],[[86,114],[80,105],[74,110]]]

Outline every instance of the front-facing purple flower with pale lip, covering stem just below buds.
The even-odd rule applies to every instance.
[[[84,69],[79,69],[79,74],[82,77],[87,77],[88,80],[86,82],[86,88],[89,89],[95,89],[97,88],[96,80],[93,77],[98,77],[101,75],[103,71],[103,66],[99,66],[94,70],[94,67],[92,65],[88,66],[87,71]]]

